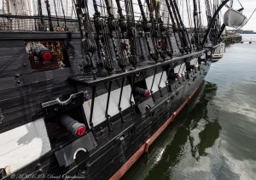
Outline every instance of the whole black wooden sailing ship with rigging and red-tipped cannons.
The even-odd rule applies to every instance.
[[[0,179],[123,177],[204,81],[228,2],[205,29],[200,1],[189,28],[176,0],[3,1]]]

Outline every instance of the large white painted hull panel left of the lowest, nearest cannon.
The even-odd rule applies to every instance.
[[[50,150],[44,119],[0,134],[0,168],[19,170]]]

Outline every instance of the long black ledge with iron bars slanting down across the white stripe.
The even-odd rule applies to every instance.
[[[119,116],[121,121],[125,121],[123,118],[123,110],[121,108],[121,102],[122,102],[122,97],[123,97],[123,88],[124,88],[124,82],[125,79],[127,79],[129,81],[129,84],[131,85],[131,94],[129,97],[129,101],[130,101],[130,108],[131,111],[134,111],[135,109],[135,105],[136,105],[136,101],[132,98],[133,97],[133,89],[134,87],[136,87],[135,84],[135,80],[137,77],[137,74],[140,74],[142,71],[145,70],[149,70],[149,69],[154,69],[154,77],[156,76],[157,71],[160,70],[160,79],[156,79],[154,78],[154,80],[152,81],[151,86],[149,87],[150,89],[148,89],[150,91],[150,93],[152,94],[152,99],[153,101],[155,101],[154,98],[154,92],[153,92],[153,86],[154,84],[158,85],[158,89],[160,91],[160,96],[162,97],[162,92],[161,92],[161,82],[162,82],[162,78],[163,75],[165,73],[165,69],[163,68],[165,65],[175,65],[178,62],[183,62],[184,59],[187,58],[197,58],[200,57],[202,55],[202,53],[204,53],[205,51],[202,50],[200,52],[195,52],[195,53],[190,53],[190,54],[186,54],[183,56],[178,56],[178,57],[174,57],[172,59],[167,59],[166,61],[162,62],[162,63],[158,63],[158,64],[151,64],[151,65],[141,65],[141,66],[137,66],[136,69],[132,69],[132,70],[126,70],[123,72],[119,72],[117,74],[112,74],[109,76],[93,76],[93,75],[77,75],[77,76],[70,76],[68,77],[68,82],[70,82],[71,84],[73,84],[74,86],[84,86],[84,87],[90,87],[91,91],[90,91],[90,116],[89,116],[89,124],[90,124],[90,128],[92,130],[92,132],[94,133],[94,122],[93,122],[93,115],[94,115],[94,110],[95,110],[95,102],[96,102],[96,87],[99,84],[105,83],[108,84],[107,91],[108,91],[108,98],[106,102],[102,102],[103,104],[105,104],[105,118],[106,121],[108,122],[108,129],[109,131],[112,131],[112,123],[111,123],[111,115],[109,115],[109,104],[110,104],[110,98],[111,98],[111,93],[113,91],[113,82],[115,82],[116,80],[120,80],[120,86],[119,86],[119,102],[117,104],[118,109],[119,109]],[[168,82],[166,82],[166,85],[168,86]]]

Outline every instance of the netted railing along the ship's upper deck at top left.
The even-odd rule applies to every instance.
[[[0,14],[0,31],[79,31],[78,21],[69,18]]]

